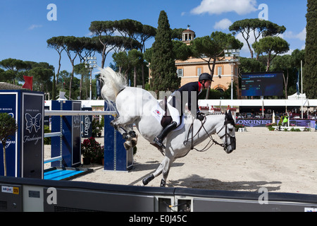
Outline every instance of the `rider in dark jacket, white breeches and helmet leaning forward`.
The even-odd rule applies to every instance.
[[[166,136],[168,135],[170,131],[172,131],[173,129],[175,129],[177,126],[180,125],[180,119],[182,118],[182,114],[185,109],[185,106],[182,106],[183,96],[188,97],[187,107],[189,111],[194,116],[196,115],[197,119],[199,119],[200,121],[204,119],[204,115],[199,111],[197,97],[201,93],[201,90],[203,90],[204,88],[209,88],[209,86],[211,85],[211,81],[212,81],[212,77],[209,73],[201,73],[201,75],[199,76],[198,82],[187,83],[183,85],[181,88],[179,88],[178,90],[175,90],[175,92],[172,93],[170,97],[168,97],[168,105],[170,105],[170,107],[168,107],[168,110],[170,111],[170,115],[173,116],[172,118],[174,121],[168,124],[168,126],[166,126],[161,131],[159,136],[156,136],[156,138],[154,138],[154,142],[157,145],[159,145],[161,148],[165,148],[165,146],[163,145],[164,138],[166,138]],[[192,92],[195,92],[194,95],[196,96],[196,106],[193,109],[192,109],[192,100],[191,100]],[[187,93],[187,95],[185,95],[185,93]],[[180,106],[180,107],[176,107],[176,106]],[[192,110],[194,111],[194,109],[196,109],[197,112],[192,112]]]

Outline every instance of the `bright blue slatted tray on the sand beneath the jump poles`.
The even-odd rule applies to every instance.
[[[51,179],[51,180],[67,180],[73,179],[75,177],[79,177],[82,174],[87,174],[92,172],[92,169],[86,170],[79,170],[76,168],[56,168],[53,167],[51,169],[44,171],[44,179]]]

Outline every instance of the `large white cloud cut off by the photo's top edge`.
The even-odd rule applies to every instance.
[[[193,8],[191,13],[221,14],[235,12],[244,15],[257,11],[256,0],[202,0],[200,5]]]

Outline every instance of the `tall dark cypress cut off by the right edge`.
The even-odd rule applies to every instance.
[[[303,85],[304,93],[310,99],[317,98],[317,4],[307,1],[306,47]]]

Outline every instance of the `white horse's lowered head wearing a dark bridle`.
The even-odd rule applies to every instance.
[[[235,150],[235,120],[230,110],[225,112],[225,122],[217,134],[223,140],[225,152],[228,154],[232,153]]]

